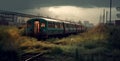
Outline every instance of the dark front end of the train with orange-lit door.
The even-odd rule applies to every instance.
[[[27,21],[26,34],[28,36],[42,37],[46,35],[46,21],[43,19],[31,19]]]

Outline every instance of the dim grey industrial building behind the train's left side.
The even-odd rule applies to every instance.
[[[24,25],[27,20],[34,17],[38,16],[0,10],[0,25],[19,27]]]

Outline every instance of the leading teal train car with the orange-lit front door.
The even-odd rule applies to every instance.
[[[63,22],[48,19],[30,19],[27,21],[27,35],[48,37],[64,33]]]

